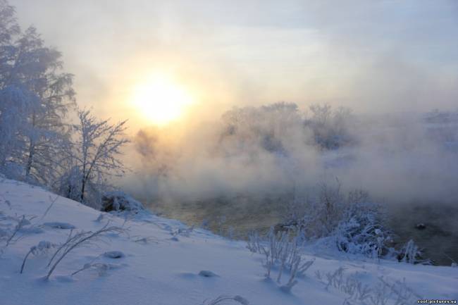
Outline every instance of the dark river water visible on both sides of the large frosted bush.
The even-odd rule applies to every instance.
[[[190,201],[181,204],[151,203],[155,213],[168,218],[182,220],[188,225],[201,225],[204,220],[217,233],[234,237],[245,237],[252,230],[268,230],[279,223],[287,198],[235,197]],[[388,225],[394,231],[397,247],[409,239],[423,250],[423,256],[435,265],[450,266],[453,259],[458,262],[458,206],[446,204],[402,204],[389,205]],[[221,218],[223,216],[223,218]],[[416,225],[423,223],[419,230]],[[232,233],[231,233],[232,234]],[[450,256],[450,258],[449,258]]]

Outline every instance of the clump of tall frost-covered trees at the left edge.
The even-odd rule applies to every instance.
[[[0,0],[0,165],[15,164],[26,180],[50,185],[68,146],[64,119],[74,103],[72,75],[35,27],[21,32],[13,6]],[[4,170],[4,169],[3,169]]]

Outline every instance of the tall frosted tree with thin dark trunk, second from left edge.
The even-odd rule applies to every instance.
[[[68,138],[63,119],[73,105],[72,75],[62,73],[61,54],[44,46],[34,27],[29,27],[16,42],[16,58],[11,79],[20,82],[39,99],[31,111],[27,150],[23,155],[25,177],[47,184],[54,180],[60,166],[56,156]]]

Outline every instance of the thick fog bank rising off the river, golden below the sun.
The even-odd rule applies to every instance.
[[[144,199],[172,202],[307,198],[322,183],[339,183],[380,202],[456,204],[457,124],[456,113],[314,113],[282,103],[234,108],[184,131],[141,130],[140,164],[128,185]]]

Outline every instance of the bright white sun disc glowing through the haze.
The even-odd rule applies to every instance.
[[[193,99],[185,87],[170,77],[154,76],[135,86],[132,103],[151,123],[166,125],[178,120]]]

